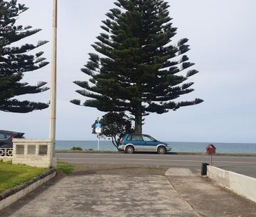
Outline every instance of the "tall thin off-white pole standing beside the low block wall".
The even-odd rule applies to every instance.
[[[57,0],[53,0],[52,8],[52,69],[50,85],[50,141],[52,143],[51,157],[55,158],[56,143],[56,92],[57,92]],[[52,166],[56,167],[55,160]]]

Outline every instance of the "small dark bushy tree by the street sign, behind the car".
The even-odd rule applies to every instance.
[[[120,139],[126,133],[133,133],[134,129],[131,126],[131,120],[124,112],[108,112],[99,121],[101,123],[101,137],[111,137],[113,145],[118,149]],[[92,133],[95,133],[95,125],[92,124]]]

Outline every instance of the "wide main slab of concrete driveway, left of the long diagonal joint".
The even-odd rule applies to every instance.
[[[92,174],[64,177],[0,216],[198,216],[163,176]]]

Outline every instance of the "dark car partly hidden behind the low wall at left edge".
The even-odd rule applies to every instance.
[[[23,138],[24,133],[0,130],[0,148],[13,148],[13,138]]]

